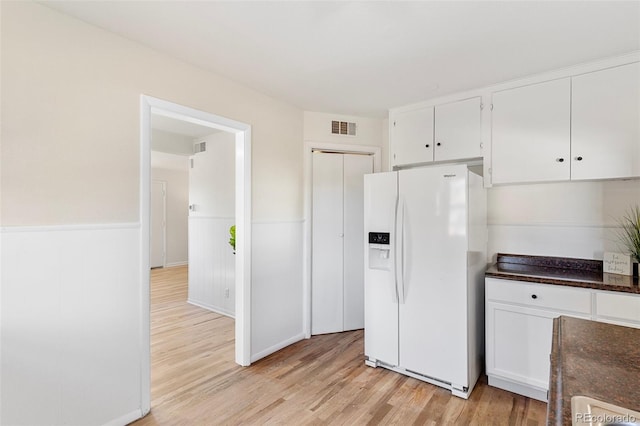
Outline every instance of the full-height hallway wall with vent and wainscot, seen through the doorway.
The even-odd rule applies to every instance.
[[[235,256],[229,228],[235,223],[235,135],[195,139],[206,151],[189,169],[189,303],[234,316]]]

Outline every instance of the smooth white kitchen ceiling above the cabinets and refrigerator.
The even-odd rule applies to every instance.
[[[309,111],[392,107],[640,50],[640,1],[47,1]]]

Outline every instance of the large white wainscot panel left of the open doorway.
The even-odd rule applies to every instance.
[[[140,417],[137,224],[3,229],[6,425]]]

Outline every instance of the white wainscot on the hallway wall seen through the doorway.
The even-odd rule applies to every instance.
[[[189,218],[189,303],[233,317],[235,255],[229,245],[234,218]]]

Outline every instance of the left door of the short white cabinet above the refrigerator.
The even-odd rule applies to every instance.
[[[433,107],[396,113],[391,140],[392,165],[433,161]]]

